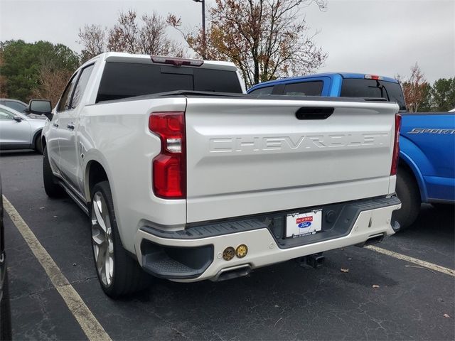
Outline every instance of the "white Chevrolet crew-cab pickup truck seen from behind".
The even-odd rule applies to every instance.
[[[399,228],[397,104],[244,92],[231,63],[105,53],[52,112],[31,101],[45,192],[90,216],[107,295],[143,270],[223,280]]]

